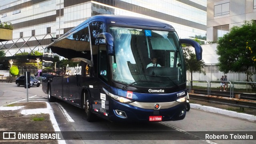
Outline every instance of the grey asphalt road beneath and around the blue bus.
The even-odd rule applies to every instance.
[[[47,101],[42,87],[28,89],[29,100]],[[26,101],[26,89],[14,83],[0,83],[0,105]],[[50,103],[66,144],[255,144],[254,140],[205,140],[206,135],[256,134],[253,121],[191,109],[184,120],[170,122],[114,123],[84,120],[80,108],[62,101]]]

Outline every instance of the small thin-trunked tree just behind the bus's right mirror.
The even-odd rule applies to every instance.
[[[194,54],[193,51],[188,47],[185,47],[183,49],[183,52],[185,57],[186,69],[190,71],[191,80],[193,80],[193,72],[204,73],[204,75],[206,75],[205,71],[202,71],[202,68],[204,68],[205,65],[204,60],[196,60],[196,54]],[[191,87],[193,87],[192,82],[190,83],[190,85]]]

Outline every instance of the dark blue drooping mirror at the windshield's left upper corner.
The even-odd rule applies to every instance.
[[[96,38],[105,39],[108,55],[115,55],[114,38],[111,34],[109,34],[107,32],[100,33],[96,36]]]

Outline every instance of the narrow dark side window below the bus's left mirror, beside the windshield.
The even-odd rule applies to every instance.
[[[99,71],[100,78],[104,81],[108,81],[108,62],[107,62],[107,51],[99,51]]]

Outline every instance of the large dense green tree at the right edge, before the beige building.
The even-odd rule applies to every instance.
[[[256,23],[244,21],[242,26],[233,26],[230,32],[218,38],[216,54],[219,55],[218,66],[220,71],[228,73],[229,71],[246,73],[249,67],[256,66]],[[252,80],[251,80],[252,81]]]

